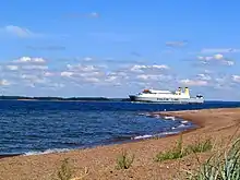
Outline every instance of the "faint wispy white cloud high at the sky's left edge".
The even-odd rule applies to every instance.
[[[41,37],[43,36],[41,34],[37,34],[37,33],[29,31],[28,28],[15,26],[15,25],[7,25],[0,29],[3,33],[10,34],[10,35],[13,35],[16,37],[21,37],[21,38]]]

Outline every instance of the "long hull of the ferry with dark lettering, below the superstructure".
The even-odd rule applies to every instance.
[[[142,103],[158,103],[158,104],[203,104],[203,98],[177,98],[177,99],[160,99],[157,97],[139,97],[130,95],[131,101],[142,101]]]

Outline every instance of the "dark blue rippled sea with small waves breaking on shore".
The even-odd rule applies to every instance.
[[[196,124],[149,112],[233,107],[240,107],[240,103],[0,100],[0,156],[47,154],[164,137],[196,128]]]

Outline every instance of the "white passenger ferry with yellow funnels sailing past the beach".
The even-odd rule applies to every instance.
[[[185,87],[184,92],[179,87],[176,92],[170,91],[156,91],[144,89],[136,95],[129,95],[131,101],[145,101],[145,103],[167,103],[167,104],[203,104],[204,97],[196,95],[191,97],[189,88]]]

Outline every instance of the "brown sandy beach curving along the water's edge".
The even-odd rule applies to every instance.
[[[154,115],[175,116],[189,120],[200,128],[182,134],[183,144],[212,137],[216,147],[221,147],[240,135],[240,108],[165,111]],[[189,155],[181,159],[154,161],[157,153],[172,147],[179,135],[151,139],[125,144],[98,146],[95,148],[71,151],[32,156],[14,156],[0,159],[0,180],[51,180],[56,178],[61,160],[69,158],[74,177],[84,175],[88,169],[87,180],[171,180],[182,178],[185,170],[195,169],[209,153]],[[116,158],[122,151],[135,158],[127,170],[116,169]],[[199,163],[200,161],[200,163]],[[184,178],[182,178],[184,179]]]

